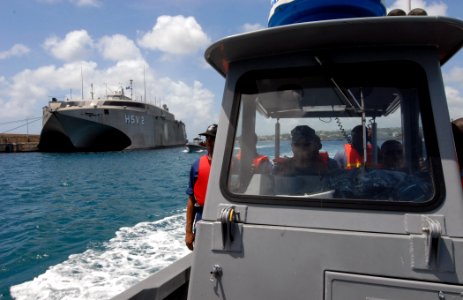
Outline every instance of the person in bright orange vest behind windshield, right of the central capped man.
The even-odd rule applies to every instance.
[[[344,151],[336,153],[334,160],[338,163],[339,167],[346,170],[356,169],[363,166],[363,132],[362,125],[355,126],[352,129],[352,143],[344,145]],[[367,166],[373,163],[373,149],[371,144],[368,143],[367,134]]]

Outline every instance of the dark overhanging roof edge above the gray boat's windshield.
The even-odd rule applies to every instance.
[[[304,38],[301,38],[304,37]],[[205,52],[223,76],[229,64],[295,51],[368,46],[429,46],[444,64],[463,45],[463,21],[447,17],[370,17],[273,27],[224,38]]]

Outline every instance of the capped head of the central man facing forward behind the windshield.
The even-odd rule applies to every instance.
[[[291,146],[295,158],[314,158],[322,148],[315,130],[307,125],[299,125],[291,130]]]

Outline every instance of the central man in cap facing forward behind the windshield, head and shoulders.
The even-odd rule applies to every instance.
[[[328,153],[319,151],[322,148],[320,137],[307,125],[299,125],[291,130],[291,148],[293,157],[274,160],[274,175],[325,175],[339,169]]]

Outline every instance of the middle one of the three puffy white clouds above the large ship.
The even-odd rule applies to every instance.
[[[142,59],[135,43],[121,34],[105,36],[98,42],[98,48],[105,59],[113,61]]]

